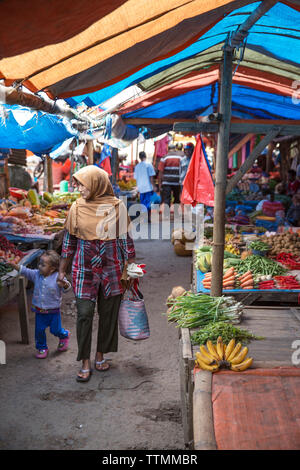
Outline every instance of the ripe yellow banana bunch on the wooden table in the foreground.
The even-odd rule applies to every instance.
[[[235,372],[241,372],[251,366],[252,357],[246,358],[248,348],[242,349],[242,344],[235,344],[235,340],[231,339],[226,345],[219,336],[217,344],[214,345],[211,340],[200,346],[200,351],[196,352],[196,367],[200,369],[216,372],[220,368],[231,369]]]

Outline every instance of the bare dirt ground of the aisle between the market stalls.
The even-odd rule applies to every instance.
[[[151,337],[140,342],[119,337],[119,351],[107,355],[110,370],[94,371],[88,383],[75,380],[80,363],[72,292],[62,308],[63,326],[72,333],[70,348],[57,353],[57,338],[48,330],[45,360],[34,357],[34,314],[31,343],[23,345],[16,303],[0,308],[7,354],[6,365],[0,365],[0,449],[184,449],[178,330],[162,312],[173,286],[190,287],[191,258],[177,257],[169,240],[135,245],[137,261],[147,265],[141,290]],[[29,293],[29,305],[30,298]],[[95,314],[94,348],[97,323]]]

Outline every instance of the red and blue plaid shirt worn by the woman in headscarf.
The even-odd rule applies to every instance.
[[[81,240],[66,230],[62,258],[73,258],[72,285],[76,297],[96,301],[100,284],[104,296],[122,294],[125,262],[135,257],[132,238]]]

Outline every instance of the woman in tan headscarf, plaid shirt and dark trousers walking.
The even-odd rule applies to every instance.
[[[113,193],[108,174],[94,166],[77,171],[74,183],[80,192],[71,206],[65,223],[58,283],[64,278],[69,261],[77,306],[77,360],[82,368],[77,381],[87,382],[90,361],[92,325],[97,302],[99,326],[94,367],[109,368],[103,354],[118,347],[118,312],[126,283],[127,265],[134,262],[135,249],[128,233],[127,209]]]

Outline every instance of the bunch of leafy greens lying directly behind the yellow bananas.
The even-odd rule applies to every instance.
[[[193,344],[205,344],[208,340],[216,342],[218,337],[222,336],[223,343],[229,343],[231,339],[247,344],[253,339],[264,339],[262,336],[255,336],[248,330],[243,330],[234,326],[232,323],[215,322],[204,326],[191,335]]]

